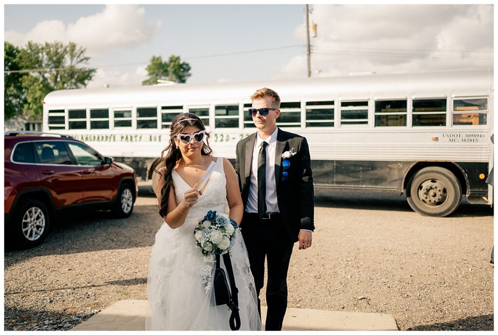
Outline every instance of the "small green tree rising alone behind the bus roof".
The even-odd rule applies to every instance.
[[[142,85],[155,85],[158,79],[176,83],[185,83],[191,76],[190,65],[180,60],[180,56],[171,55],[168,61],[162,61],[161,56],[152,56],[146,67],[149,78]]]

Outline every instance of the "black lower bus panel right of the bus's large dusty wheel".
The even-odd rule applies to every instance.
[[[488,204],[488,200],[483,199],[488,197],[488,163],[470,163],[456,162],[457,165],[464,171],[469,181],[469,190],[467,191],[467,201],[471,204]]]

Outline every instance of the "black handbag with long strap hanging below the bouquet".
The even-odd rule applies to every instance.
[[[228,253],[223,255],[223,261],[227,268],[226,272],[220,267],[220,255],[216,255],[216,269],[213,277],[216,306],[228,305],[228,308],[232,311],[229,320],[230,329],[238,331],[241,328],[238,297],[239,290],[237,289],[237,286],[235,286],[234,270]]]

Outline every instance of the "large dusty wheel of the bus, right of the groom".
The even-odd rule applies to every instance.
[[[455,175],[441,167],[421,169],[411,178],[406,200],[417,213],[430,217],[446,217],[460,206],[462,186]]]

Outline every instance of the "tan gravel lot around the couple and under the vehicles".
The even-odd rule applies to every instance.
[[[289,307],[391,314],[400,330],[494,330],[489,207],[427,218],[403,198],[340,193],[317,201],[315,216],[312,248],[291,258]],[[145,299],[160,224],[141,189],[129,219],[75,214],[41,246],[5,250],[4,330],[69,330],[117,301]]]

